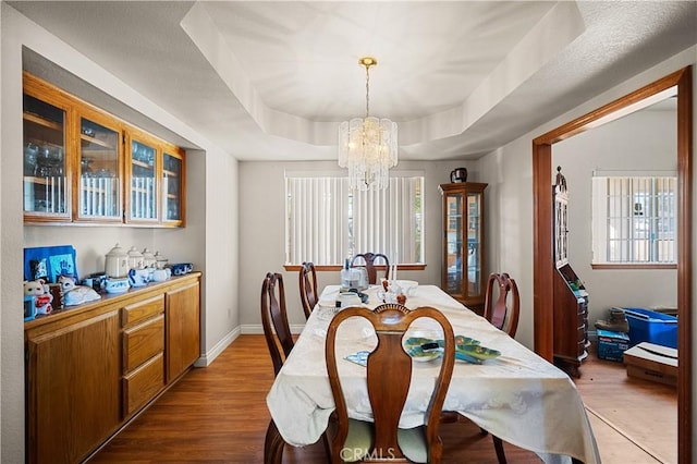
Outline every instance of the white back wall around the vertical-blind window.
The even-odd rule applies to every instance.
[[[400,161],[395,170],[423,170],[425,175],[425,259],[424,271],[400,271],[404,279],[440,285],[441,279],[441,195],[438,185],[450,182],[450,171],[464,167],[468,180],[478,181],[473,162],[466,161]],[[281,272],[285,285],[289,321],[293,331],[305,322],[299,303],[297,272],[285,272],[284,249],[284,173],[285,171],[337,171],[335,161],[323,162],[241,162],[240,163],[240,258],[244,271],[240,274],[240,315],[242,330],[260,332],[259,293],[267,272]],[[374,251],[377,252],[377,251]],[[339,271],[318,271],[320,288],[339,282]]]

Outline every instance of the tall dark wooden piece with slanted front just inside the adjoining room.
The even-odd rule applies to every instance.
[[[554,363],[574,377],[588,356],[588,292],[568,262],[568,193],[566,178],[557,168],[554,204]]]

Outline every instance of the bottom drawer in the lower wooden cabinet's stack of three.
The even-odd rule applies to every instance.
[[[123,416],[136,412],[164,387],[164,356],[157,356],[123,377]]]

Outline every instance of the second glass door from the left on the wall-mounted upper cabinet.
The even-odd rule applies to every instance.
[[[120,132],[87,118],[80,127],[77,218],[121,221]]]

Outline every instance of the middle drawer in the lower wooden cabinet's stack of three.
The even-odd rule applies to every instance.
[[[164,350],[164,315],[123,331],[123,371],[129,373]]]

